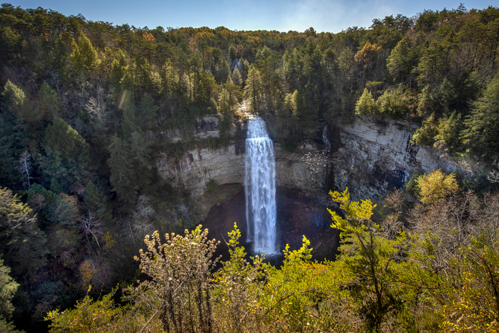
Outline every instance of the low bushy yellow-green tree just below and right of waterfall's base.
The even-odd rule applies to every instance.
[[[352,318],[352,299],[340,284],[352,277],[327,261],[312,261],[310,242],[303,236],[301,248],[283,250],[281,268],[268,267],[263,296],[263,318],[274,332],[358,332]],[[265,329],[264,329],[265,330]]]

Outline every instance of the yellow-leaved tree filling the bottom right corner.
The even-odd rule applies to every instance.
[[[464,221],[442,235],[443,239],[451,234],[456,240],[451,241],[454,251],[447,251],[451,258],[446,274],[452,274],[453,289],[442,309],[445,321],[440,326],[445,332],[498,332],[499,196],[485,194],[480,201],[462,205],[465,214],[448,209],[447,214],[454,219],[465,216]]]

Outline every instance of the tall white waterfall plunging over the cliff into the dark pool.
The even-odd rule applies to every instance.
[[[247,241],[254,252],[276,253],[276,168],[274,146],[265,121],[258,116],[247,121],[246,139]]]

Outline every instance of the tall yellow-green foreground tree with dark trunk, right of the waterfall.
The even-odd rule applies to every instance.
[[[367,330],[383,332],[389,319],[398,327],[410,326],[407,301],[416,298],[424,281],[417,265],[405,259],[411,237],[399,232],[394,239],[385,238],[383,228],[371,221],[376,205],[369,199],[350,201],[348,189],[329,194],[345,214],[343,218],[328,208],[331,226],[340,230],[342,240],[335,265],[352,275],[346,285]]]

